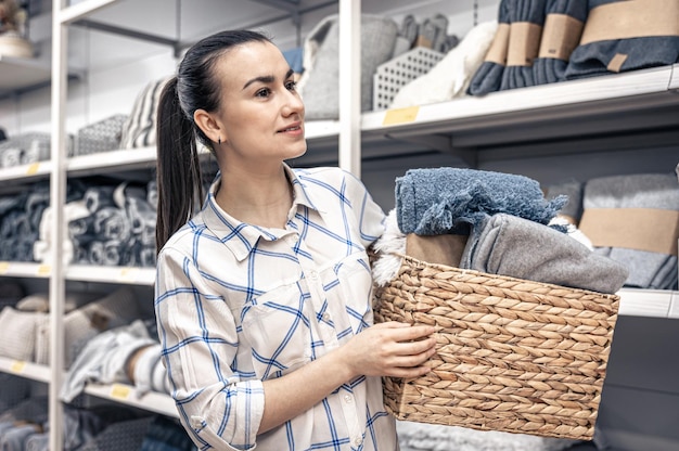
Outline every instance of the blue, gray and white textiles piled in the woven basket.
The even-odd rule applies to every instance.
[[[396,208],[387,217],[388,233],[375,248],[385,255],[400,249],[428,262],[490,274],[617,292],[628,275],[625,266],[593,253],[567,228],[552,226],[566,201],[565,195],[548,201],[537,181],[523,176],[411,169],[396,180]],[[451,237],[457,237],[452,244]],[[428,252],[413,255],[411,250],[422,249],[427,239],[457,255],[444,256],[446,261],[431,261]],[[398,271],[398,263],[388,261],[374,266],[379,285],[386,285]]]

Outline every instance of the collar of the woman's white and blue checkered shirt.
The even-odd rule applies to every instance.
[[[293,186],[293,205],[291,211],[297,211],[300,206],[318,210],[313,203],[313,195],[304,182],[304,177],[299,178],[296,171],[283,164],[285,173]],[[226,212],[215,199],[215,194],[219,189],[220,178],[217,176],[209,188],[205,205],[201,211],[205,226],[221,241],[225,246],[233,253],[234,257],[242,261],[255,248],[257,242],[261,240],[274,241],[286,234],[280,230],[266,229],[258,226],[248,224],[233,218]]]

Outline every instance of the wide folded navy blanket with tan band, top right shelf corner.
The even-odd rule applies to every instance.
[[[564,77],[576,79],[679,61],[679,2],[589,0]]]

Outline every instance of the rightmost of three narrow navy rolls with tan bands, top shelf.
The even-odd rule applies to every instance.
[[[548,0],[540,50],[533,63],[536,85],[565,80],[568,60],[580,41],[587,13],[585,0]]]

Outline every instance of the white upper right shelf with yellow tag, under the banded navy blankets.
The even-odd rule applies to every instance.
[[[363,155],[388,139],[457,153],[472,164],[477,151],[526,143],[542,144],[541,152],[545,143],[659,130],[671,130],[676,142],[677,72],[679,64],[366,113]]]

